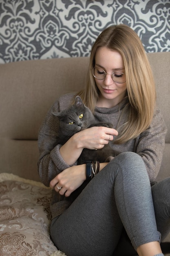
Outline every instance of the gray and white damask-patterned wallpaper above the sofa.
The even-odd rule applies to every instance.
[[[170,51],[170,0],[0,0],[0,63],[89,56],[99,33],[119,23],[146,52]]]

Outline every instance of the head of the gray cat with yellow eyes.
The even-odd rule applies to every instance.
[[[60,129],[65,135],[73,135],[84,130],[95,120],[91,110],[87,108],[79,96],[75,97],[75,103],[61,112],[53,112],[60,119]]]

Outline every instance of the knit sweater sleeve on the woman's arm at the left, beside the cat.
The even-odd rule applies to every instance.
[[[66,101],[68,104],[68,101]],[[38,148],[40,151],[38,160],[38,173],[44,185],[49,186],[50,181],[61,171],[70,167],[60,155],[58,144],[59,120],[53,115],[53,111],[60,111],[60,101],[56,101],[46,115],[38,134]],[[77,163],[75,163],[77,164]],[[73,164],[73,165],[75,165]]]

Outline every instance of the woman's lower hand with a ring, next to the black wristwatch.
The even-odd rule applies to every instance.
[[[68,197],[86,180],[86,164],[71,166],[59,173],[50,182],[51,188],[54,188],[60,195]],[[56,186],[57,185],[57,186]],[[60,189],[61,188],[61,189]]]

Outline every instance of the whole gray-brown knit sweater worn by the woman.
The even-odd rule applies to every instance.
[[[66,94],[60,97],[51,107],[46,118],[40,128],[38,136],[38,146],[40,150],[40,159],[38,161],[38,172],[42,182],[49,186],[50,181],[61,171],[68,168],[68,164],[64,162],[60,155],[58,144],[58,128],[57,118],[52,114],[53,111],[61,111],[73,101],[73,94]],[[114,128],[119,127],[126,122],[126,111],[122,110],[126,106],[127,99],[124,99],[113,108],[95,108],[95,117],[100,121],[107,121],[113,124]],[[121,115],[122,114],[122,115]],[[118,124],[121,115],[121,122]],[[139,154],[145,162],[146,169],[150,178],[150,182],[155,180],[160,169],[163,148],[165,144],[166,125],[162,119],[160,110],[156,110],[152,124],[142,132],[137,138],[130,139],[124,144],[110,143],[115,151],[115,155],[121,152],[133,151]],[[77,164],[77,163],[75,163]],[[62,214],[66,208],[74,200],[72,196],[66,198],[59,193],[53,191],[51,202],[52,218]]]

